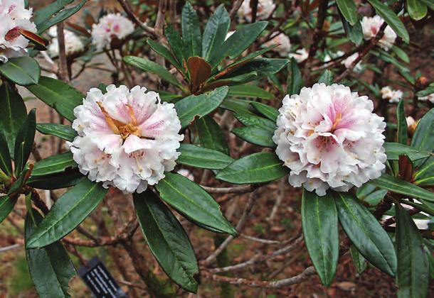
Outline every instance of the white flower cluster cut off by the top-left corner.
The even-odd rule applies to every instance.
[[[36,33],[36,25],[30,21],[32,13],[24,0],[0,0],[0,62],[27,55],[28,40],[19,31]]]

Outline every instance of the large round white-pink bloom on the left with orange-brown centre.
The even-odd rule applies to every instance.
[[[174,104],[146,90],[110,85],[102,94],[92,88],[74,109],[78,136],[68,146],[80,172],[125,194],[143,192],[174,170],[184,139]]]

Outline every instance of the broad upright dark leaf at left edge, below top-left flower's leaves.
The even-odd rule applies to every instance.
[[[15,138],[21,125],[26,120],[27,111],[20,94],[11,87],[9,82],[1,84],[0,106],[0,131],[6,137],[11,158],[14,158]]]

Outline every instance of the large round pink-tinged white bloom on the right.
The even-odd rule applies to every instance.
[[[285,96],[272,140],[290,168],[294,187],[346,192],[376,179],[385,168],[383,118],[374,104],[344,85],[314,84]]]

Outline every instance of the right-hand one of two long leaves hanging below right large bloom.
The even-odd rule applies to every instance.
[[[374,215],[348,192],[333,192],[333,196],[346,236],[366,260],[394,276],[397,262],[395,248]]]

